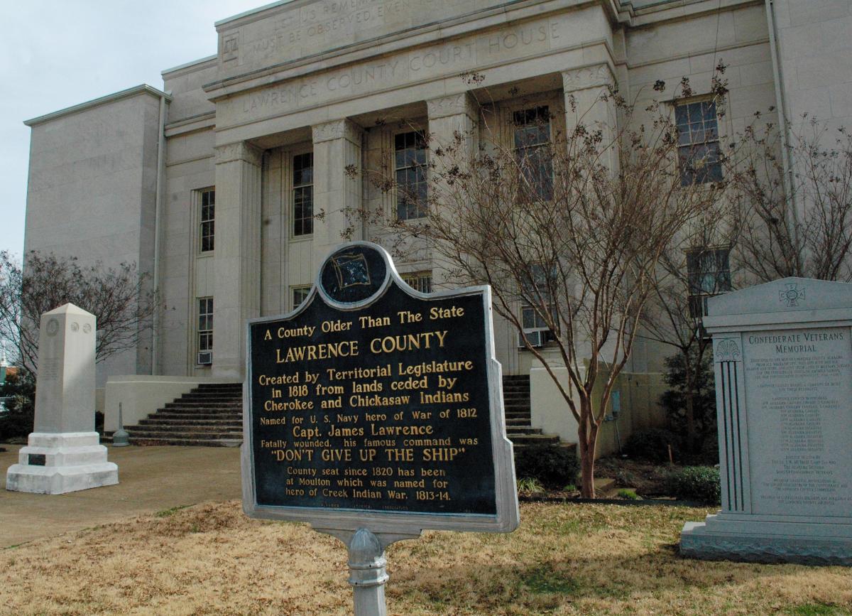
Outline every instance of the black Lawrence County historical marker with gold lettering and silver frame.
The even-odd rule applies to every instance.
[[[517,526],[488,288],[417,293],[352,242],[296,311],[249,323],[248,357],[246,513],[338,536]]]

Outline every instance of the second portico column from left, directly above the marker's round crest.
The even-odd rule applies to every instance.
[[[313,271],[343,241],[364,239],[358,215],[362,201],[361,145],[364,132],[350,119],[335,119],[312,127],[314,135]],[[343,235],[346,235],[344,237]]]

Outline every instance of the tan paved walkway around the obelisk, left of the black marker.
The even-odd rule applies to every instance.
[[[47,495],[6,491],[21,445],[0,445],[0,549],[181,505],[241,497],[239,447],[108,447],[118,485]]]

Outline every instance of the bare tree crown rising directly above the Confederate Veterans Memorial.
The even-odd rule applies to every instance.
[[[807,116],[786,134],[782,145],[779,126],[749,126],[730,160],[737,265],[759,282],[852,281],[852,135]]]

